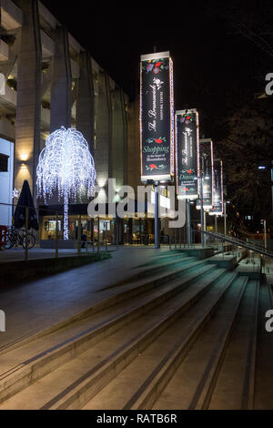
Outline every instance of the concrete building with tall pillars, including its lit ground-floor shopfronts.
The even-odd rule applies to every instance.
[[[39,207],[40,239],[54,239],[62,201],[54,195],[47,209],[44,200],[36,199],[35,171],[45,139],[62,126],[83,133],[95,159],[100,202],[107,202],[108,178],[116,178],[116,190],[130,185],[136,192],[141,184],[139,103],[129,103],[92,53],[39,0],[1,0],[0,6],[0,77],[5,78],[4,88],[0,78],[0,157],[9,158],[8,170],[0,170],[0,225],[11,225],[13,189],[22,189],[27,179]],[[91,238],[121,243],[144,241],[147,235],[153,239],[153,220],[146,221],[145,215],[115,222],[106,213],[94,222],[87,216],[87,203],[82,200],[69,211],[71,239],[76,239],[80,215]]]

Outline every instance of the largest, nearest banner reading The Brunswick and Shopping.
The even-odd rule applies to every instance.
[[[168,181],[174,175],[173,65],[169,52],[141,56],[141,181]]]

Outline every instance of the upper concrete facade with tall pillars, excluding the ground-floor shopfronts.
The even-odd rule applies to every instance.
[[[129,100],[122,88],[39,0],[1,0],[0,5],[0,73],[5,76],[0,154],[14,153],[12,168],[3,171],[12,175],[5,177],[8,192],[20,190],[27,179],[36,198],[39,154],[49,133],[62,126],[84,134],[100,186],[107,190],[112,177],[118,188],[126,184]],[[0,202],[5,202],[2,184]],[[9,225],[11,213],[3,211],[0,224]]]

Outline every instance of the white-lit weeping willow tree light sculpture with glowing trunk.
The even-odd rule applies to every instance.
[[[95,180],[94,159],[79,131],[61,127],[46,138],[37,166],[37,190],[45,202],[55,189],[58,199],[64,199],[64,239],[68,239],[68,199],[92,196]]]

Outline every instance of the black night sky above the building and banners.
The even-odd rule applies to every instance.
[[[90,51],[130,99],[138,94],[138,63],[141,54],[169,50],[174,61],[176,109],[197,107],[201,135],[217,138],[218,120],[242,98],[248,102],[262,92],[264,76],[270,72],[267,57],[247,38],[235,34],[220,2],[62,2],[42,0],[68,31]],[[239,4],[240,2],[236,2]],[[241,2],[239,9],[260,3]],[[89,8],[87,8],[89,5]],[[108,5],[111,5],[108,7]],[[130,5],[130,6],[129,6]],[[249,9],[250,8],[250,9]]]

